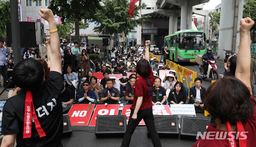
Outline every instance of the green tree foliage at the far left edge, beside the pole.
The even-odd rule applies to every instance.
[[[11,22],[10,1],[0,1],[0,38],[6,36],[6,22]]]

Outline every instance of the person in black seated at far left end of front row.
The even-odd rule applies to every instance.
[[[61,92],[61,101],[62,101],[62,111],[63,113],[70,110],[70,108],[73,105],[74,102],[74,95],[72,93],[72,90],[68,87],[64,87],[64,89]]]

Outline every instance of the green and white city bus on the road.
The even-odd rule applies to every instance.
[[[165,36],[164,46],[168,46],[172,62],[195,62],[197,55],[206,52],[205,32],[180,30]]]

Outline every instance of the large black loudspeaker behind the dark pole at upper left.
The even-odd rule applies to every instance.
[[[36,29],[35,22],[19,22],[20,26],[20,47],[36,48]],[[7,46],[12,44],[11,22],[6,22]]]

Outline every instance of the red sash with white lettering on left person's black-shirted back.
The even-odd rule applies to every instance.
[[[31,126],[32,126],[32,116],[34,118],[36,130],[41,137],[46,136],[44,130],[42,129],[40,122],[36,116],[36,111],[34,108],[34,104],[32,101],[32,92],[27,91],[26,100],[25,100],[25,114],[24,114],[24,129],[23,129],[23,138],[30,138],[31,137]]]

